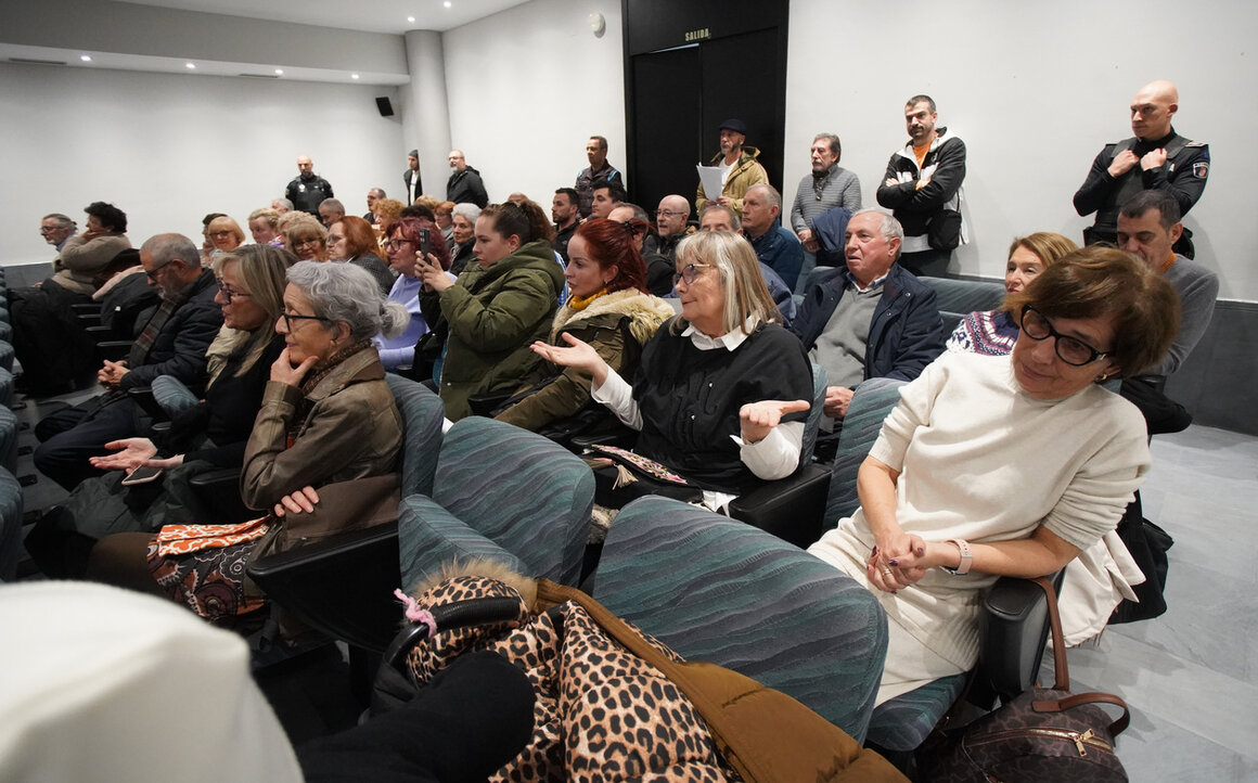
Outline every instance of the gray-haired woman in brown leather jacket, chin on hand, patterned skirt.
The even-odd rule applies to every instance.
[[[245,505],[277,517],[311,512],[316,487],[396,470],[401,417],[371,337],[399,334],[409,317],[352,264],[306,261],[288,269],[276,321],[284,350],[270,365],[245,446]],[[267,524],[258,520],[254,532]],[[259,538],[218,538],[187,551],[194,536],[177,527],[103,539],[88,578],[165,595],[219,626],[258,618],[265,599],[245,593],[244,570]]]

